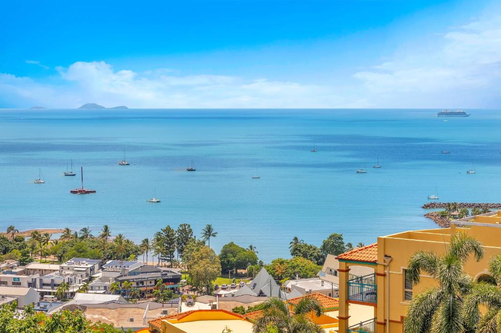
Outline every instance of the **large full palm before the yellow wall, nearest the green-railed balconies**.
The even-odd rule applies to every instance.
[[[466,233],[458,232],[450,238],[445,254],[417,251],[409,259],[406,276],[417,284],[421,271],[438,281],[438,286],[415,295],[407,308],[404,320],[406,333],[433,331],[462,333],[469,331],[471,318],[463,317],[464,297],[474,286],[470,276],[463,272],[469,256],[479,261],[484,255],[482,244]]]

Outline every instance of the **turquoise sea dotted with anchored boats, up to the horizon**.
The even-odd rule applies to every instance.
[[[216,251],[253,244],[270,261],[289,256],[294,236],[371,243],[434,227],[420,206],[435,186],[443,201],[501,201],[499,111],[436,111],[3,110],[0,228],[107,223],[139,241],[166,224],[199,235],[212,223]],[[130,166],[117,165],[124,146]],[[80,170],[63,176],[71,158],[96,194],[70,194],[80,185]],[[39,167],[45,184],[33,183]],[[148,203],[155,186],[162,202]]]

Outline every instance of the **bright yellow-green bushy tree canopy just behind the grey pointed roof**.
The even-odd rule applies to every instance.
[[[294,279],[296,274],[300,278],[314,277],[322,267],[308,259],[295,256],[292,259],[275,259],[265,268],[275,279],[281,280],[286,277]]]

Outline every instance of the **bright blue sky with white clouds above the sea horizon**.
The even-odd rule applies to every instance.
[[[498,108],[492,0],[0,2],[0,108]]]

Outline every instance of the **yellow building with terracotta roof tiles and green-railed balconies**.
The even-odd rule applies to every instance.
[[[487,262],[501,253],[501,211],[457,219],[448,228],[414,230],[378,237],[377,243],[340,254],[339,332],[402,333],[407,304],[413,295],[435,285],[430,276],[421,275],[415,286],[405,278],[409,257],[418,250],[441,254],[451,235],[462,231],[482,242],[485,256],[469,260],[465,271],[475,280],[488,279]],[[350,279],[350,267],[365,266],[373,273]],[[348,305],[374,307],[374,319],[349,325]]]

